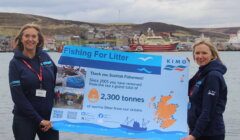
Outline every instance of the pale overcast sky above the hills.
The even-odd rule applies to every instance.
[[[0,0],[0,12],[95,23],[239,27],[240,0]]]

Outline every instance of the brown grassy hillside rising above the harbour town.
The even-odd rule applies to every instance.
[[[45,35],[81,35],[89,29],[106,29],[110,31],[122,31],[130,34],[133,32],[146,32],[148,28],[154,30],[155,34],[160,32],[181,33],[182,35],[200,35],[204,33],[209,37],[227,38],[229,33],[239,28],[203,29],[185,28],[161,22],[148,22],[143,24],[98,24],[71,20],[57,20],[38,15],[20,13],[0,13],[0,35],[14,36],[21,26],[26,23],[39,24]]]

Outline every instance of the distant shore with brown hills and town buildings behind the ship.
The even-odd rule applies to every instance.
[[[96,48],[129,51],[131,39],[137,35],[147,35],[148,29],[154,30],[154,37],[162,36],[163,40],[173,39],[179,42],[176,51],[191,51],[195,39],[205,35],[214,42],[219,51],[240,51],[240,26],[222,28],[187,28],[161,22],[142,24],[100,24],[81,21],[57,20],[44,16],[0,12],[0,52],[11,52],[12,40],[22,25],[35,23],[42,26],[45,35],[45,50],[61,52],[64,45],[91,44]],[[144,51],[139,44],[131,51]],[[144,41],[143,41],[144,42]],[[235,43],[238,42],[238,43]],[[146,42],[144,42],[146,43]],[[148,44],[159,44],[152,40]],[[109,45],[99,45],[109,44]],[[164,44],[164,43],[160,43]],[[164,44],[165,45],[165,44]],[[151,48],[151,50],[156,48]],[[158,49],[159,51],[160,49]],[[175,51],[175,50],[174,50]],[[153,51],[156,52],[156,51]]]

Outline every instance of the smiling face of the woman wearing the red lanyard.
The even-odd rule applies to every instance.
[[[39,42],[38,31],[34,28],[27,28],[23,31],[21,42],[24,51],[35,51]]]

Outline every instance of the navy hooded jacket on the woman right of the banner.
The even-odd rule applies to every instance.
[[[200,67],[189,81],[188,125],[190,134],[196,138],[225,134],[226,71],[219,60],[213,60]]]

